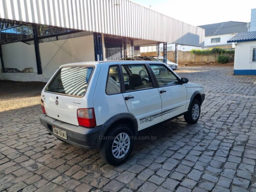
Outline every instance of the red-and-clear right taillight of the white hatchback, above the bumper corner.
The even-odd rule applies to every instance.
[[[93,108],[77,110],[78,124],[84,127],[96,127],[96,119]]]

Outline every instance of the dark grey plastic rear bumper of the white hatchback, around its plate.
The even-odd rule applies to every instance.
[[[44,125],[52,135],[59,138],[62,141],[67,143],[80,146],[86,149],[96,149],[97,142],[99,140],[99,134],[102,128],[102,125],[87,128],[83,126],[76,126],[69,123],[65,123],[54,118],[51,118],[45,114],[39,116],[40,122]],[[67,139],[64,139],[52,132],[52,126],[55,126],[59,129],[62,129],[67,132]]]

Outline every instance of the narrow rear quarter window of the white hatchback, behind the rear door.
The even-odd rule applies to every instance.
[[[108,79],[106,84],[106,94],[113,95],[121,93],[118,66],[109,67]]]

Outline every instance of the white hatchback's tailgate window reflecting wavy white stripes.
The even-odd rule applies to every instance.
[[[46,87],[46,91],[73,96],[86,92],[93,67],[63,67]]]

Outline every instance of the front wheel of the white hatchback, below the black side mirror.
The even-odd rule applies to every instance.
[[[195,124],[201,112],[201,104],[197,99],[192,101],[192,104],[188,110],[188,113],[184,115],[184,119],[188,124]]]

